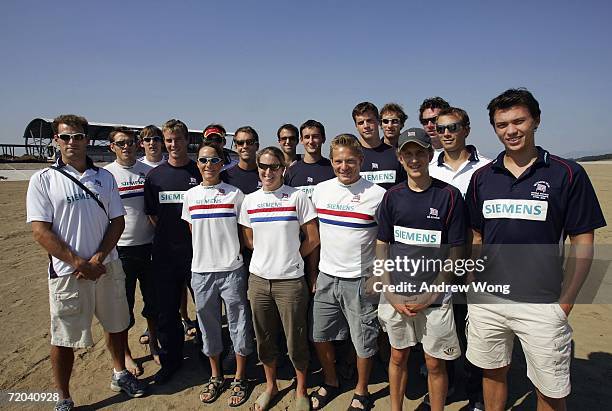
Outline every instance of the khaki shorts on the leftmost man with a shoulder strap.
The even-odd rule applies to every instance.
[[[125,296],[125,274],[121,261],[106,264],[106,274],[97,281],[65,275],[49,279],[51,345],[83,348],[93,345],[94,314],[106,332],[128,328],[130,314]]]

